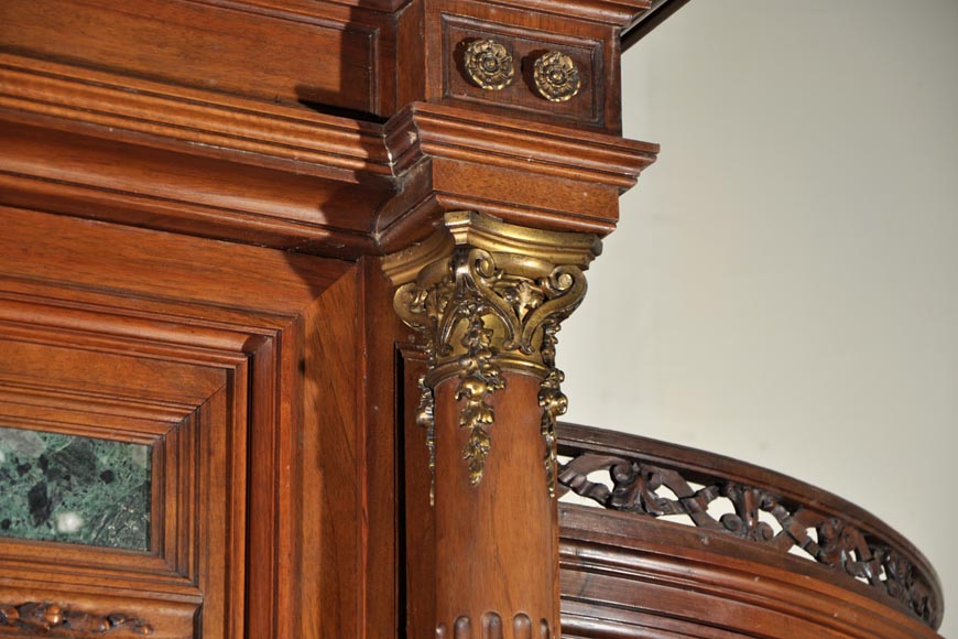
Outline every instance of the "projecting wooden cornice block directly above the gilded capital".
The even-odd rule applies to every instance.
[[[377,219],[387,252],[422,240],[445,210],[605,236],[619,195],[654,162],[656,144],[416,102],[385,127],[402,185]]]

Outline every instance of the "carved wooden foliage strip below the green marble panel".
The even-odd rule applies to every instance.
[[[79,635],[116,636],[153,635],[153,627],[142,619],[110,613],[101,615],[74,610],[58,604],[29,602],[18,606],[0,604],[0,628],[10,627],[28,635],[78,637]]]

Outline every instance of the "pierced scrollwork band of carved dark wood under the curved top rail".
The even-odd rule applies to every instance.
[[[599,477],[602,480],[595,480]],[[888,541],[836,513],[718,474],[708,476],[700,468],[686,473],[600,452],[576,451],[560,467],[558,483],[560,494],[573,491],[611,510],[654,518],[685,516],[697,528],[783,553],[801,549],[802,556],[879,588],[937,627],[940,606],[928,578]],[[733,512],[709,512],[725,500]]]

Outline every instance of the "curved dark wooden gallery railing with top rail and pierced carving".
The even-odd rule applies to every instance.
[[[941,587],[928,561],[901,534],[840,497],[751,464],[645,437],[559,424],[558,441],[562,501],[574,494],[580,503],[657,526],[662,534],[653,531],[650,539],[671,539],[675,523],[685,523],[709,553],[799,571],[830,592],[850,589],[927,629],[940,624]],[[576,508],[581,509],[563,506],[563,521],[588,515]]]

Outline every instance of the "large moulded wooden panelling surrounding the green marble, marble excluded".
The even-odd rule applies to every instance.
[[[0,603],[121,611],[170,638],[389,624],[392,469],[366,468],[391,451],[364,429],[392,423],[394,391],[381,378],[367,390],[381,360],[357,349],[355,322],[369,317],[370,343],[395,339],[375,321],[381,275],[24,209],[0,218],[4,425],[148,443],[160,462],[150,552],[0,539]]]

